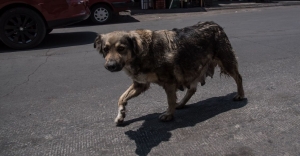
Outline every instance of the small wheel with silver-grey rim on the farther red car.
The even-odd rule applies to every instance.
[[[96,24],[107,23],[112,17],[111,9],[108,6],[102,4],[92,7],[91,12],[92,14],[90,16],[90,19],[93,23]]]

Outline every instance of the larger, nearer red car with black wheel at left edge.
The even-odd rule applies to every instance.
[[[32,48],[53,28],[89,15],[88,0],[0,0],[0,39],[14,49]]]

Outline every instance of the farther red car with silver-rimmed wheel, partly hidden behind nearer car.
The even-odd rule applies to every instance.
[[[107,23],[113,14],[128,10],[133,6],[131,0],[90,0],[90,19],[96,24]]]

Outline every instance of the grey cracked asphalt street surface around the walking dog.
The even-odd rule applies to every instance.
[[[54,30],[35,49],[0,44],[0,155],[300,155],[300,6],[122,16],[108,25]],[[182,28],[198,21],[224,27],[235,49],[246,99],[216,71],[172,122],[152,85],[128,104],[116,127],[119,96],[131,84],[104,69],[97,33]],[[127,22],[127,23],[125,23]],[[179,98],[183,92],[179,92]]]

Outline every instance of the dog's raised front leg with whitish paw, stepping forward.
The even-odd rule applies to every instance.
[[[115,119],[115,123],[117,125],[123,123],[125,114],[125,106],[127,105],[127,101],[133,97],[140,95],[142,92],[146,91],[149,88],[150,84],[142,84],[133,82],[133,84],[121,95],[118,102],[118,116]]]

